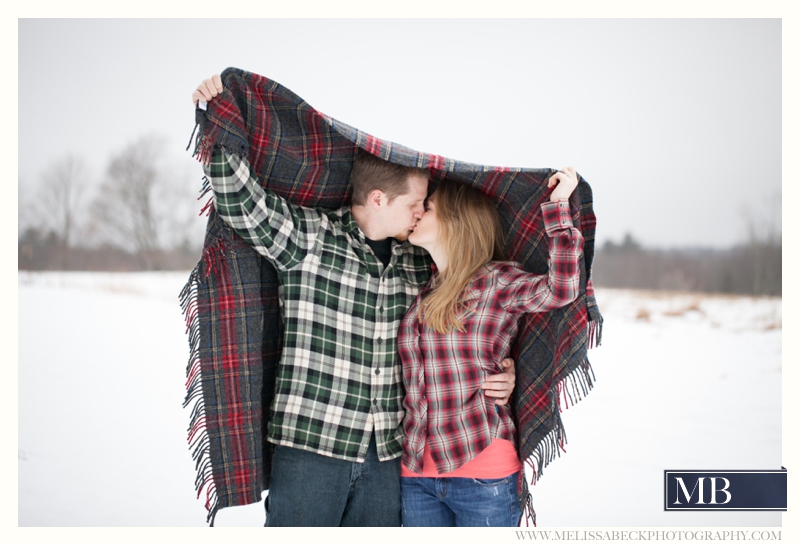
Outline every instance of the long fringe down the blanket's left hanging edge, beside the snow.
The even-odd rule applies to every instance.
[[[214,518],[221,508],[219,495],[214,483],[214,473],[211,461],[211,440],[206,425],[205,401],[203,399],[202,363],[200,358],[200,316],[198,309],[198,291],[200,289],[200,275],[208,277],[217,269],[217,261],[225,251],[225,244],[218,240],[215,244],[203,250],[203,256],[189,274],[186,285],[180,292],[179,300],[184,319],[186,320],[186,333],[189,341],[189,362],[186,365],[186,398],[183,401],[185,409],[193,403],[189,415],[189,428],[187,429],[187,442],[195,461],[195,490],[197,498],[206,491],[205,508],[208,512],[206,522],[214,526]]]

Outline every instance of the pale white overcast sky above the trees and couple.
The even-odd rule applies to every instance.
[[[781,199],[780,19],[20,19],[19,183],[100,176],[235,66],[375,136],[460,160],[574,165],[598,241],[724,247]],[[777,204],[776,204],[777,203]],[[770,218],[770,214],[772,218]],[[779,221],[779,220],[778,220]]]

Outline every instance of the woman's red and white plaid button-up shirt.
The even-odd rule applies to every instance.
[[[562,307],[579,293],[583,236],[569,203],[543,203],[542,217],[550,237],[548,274],[525,272],[515,262],[487,264],[462,296],[465,331],[445,335],[417,316],[432,277],[403,319],[397,339],[406,389],[403,463],[411,471],[422,471],[426,441],[439,473],[458,469],[494,439],[516,443],[510,404],[496,405],[480,386],[503,371],[521,314]]]

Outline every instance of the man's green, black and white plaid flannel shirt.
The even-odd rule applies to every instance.
[[[262,189],[246,159],[215,149],[205,166],[217,213],[277,269],[283,353],[267,439],[363,462],[402,454],[397,331],[430,276],[427,253],[393,242],[384,269],[348,207],[296,206]]]

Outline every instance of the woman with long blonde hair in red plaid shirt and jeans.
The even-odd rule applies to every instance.
[[[571,167],[550,178],[542,204],[549,273],[502,259],[497,209],[479,191],[439,184],[408,240],[425,248],[434,274],[398,334],[406,388],[401,489],[404,526],[517,526],[522,464],[508,405],[480,388],[502,370],[517,318],[578,295],[583,237],[572,226]]]

